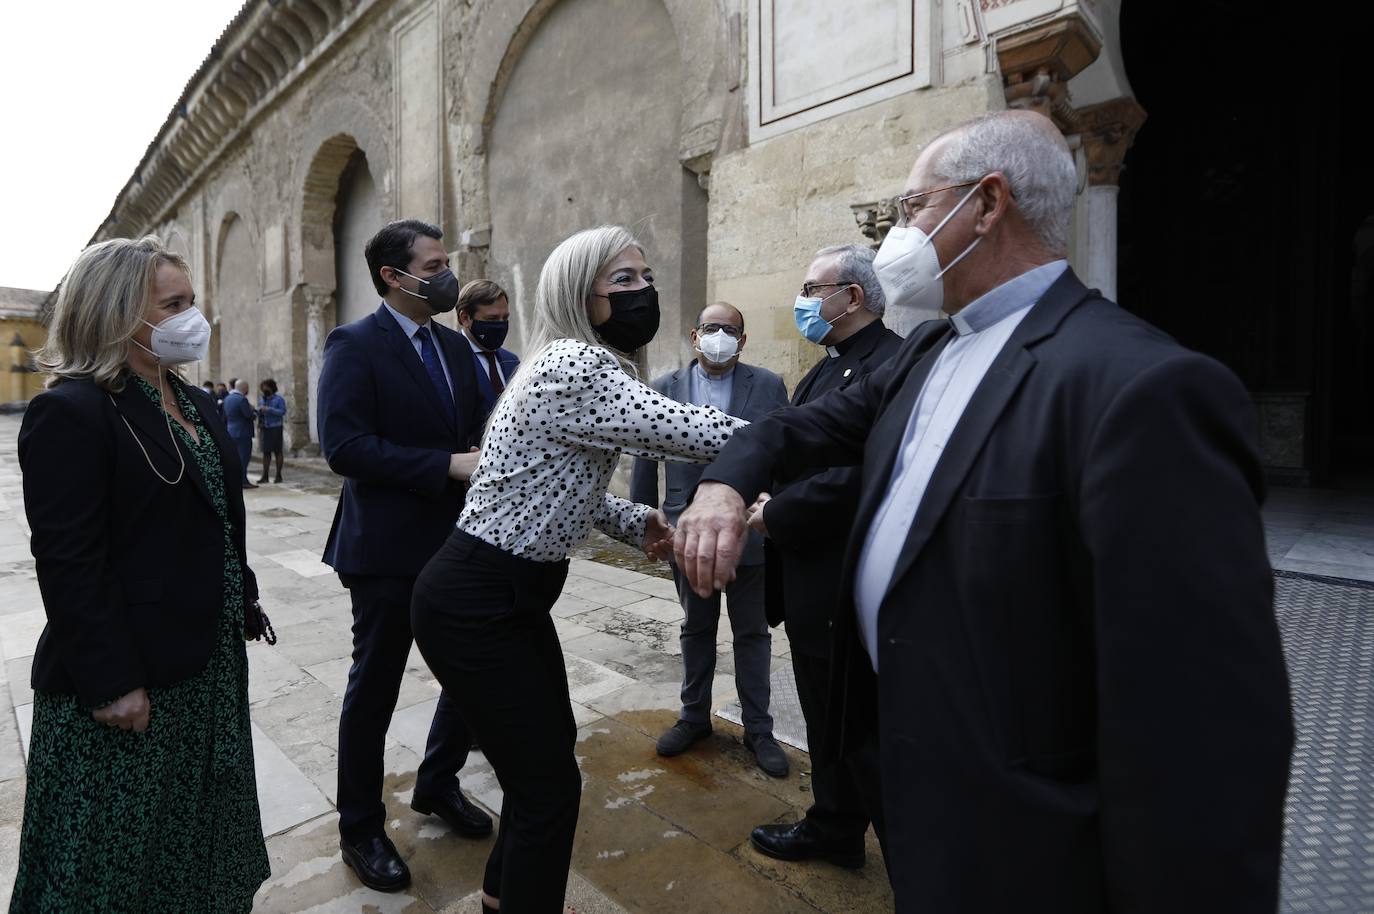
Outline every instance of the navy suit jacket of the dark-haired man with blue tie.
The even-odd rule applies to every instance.
[[[481,407],[467,339],[430,322],[453,381],[458,423],[441,405],[396,317],[335,327],[320,370],[320,448],[344,491],[324,544],[341,575],[415,577],[463,511],[449,456],[480,444]]]

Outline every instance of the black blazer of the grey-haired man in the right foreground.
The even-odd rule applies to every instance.
[[[747,502],[774,466],[863,467],[831,737],[878,727],[897,909],[1272,914],[1293,724],[1254,408],[1072,272],[936,466],[878,614],[874,698],[857,553],[947,339],[923,326],[706,474]]]

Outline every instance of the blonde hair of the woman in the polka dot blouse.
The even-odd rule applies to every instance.
[[[594,346],[605,346],[621,367],[638,377],[635,363],[625,353],[616,352],[592,330],[587,316],[587,302],[596,286],[596,274],[627,247],[644,246],[622,225],[598,225],[565,238],[544,261],[534,289],[534,315],[530,322],[526,348],[529,361],[536,361],[555,339],[581,339]]]

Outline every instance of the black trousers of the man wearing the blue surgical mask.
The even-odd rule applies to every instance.
[[[791,672],[797,679],[797,698],[807,719],[807,744],[811,746],[811,796],[807,822],[827,838],[863,840],[868,830],[868,810],[878,800],[878,764],[872,750],[827,764],[818,752],[826,731],[830,701],[830,658],[791,651]],[[881,812],[879,812],[881,815]]]

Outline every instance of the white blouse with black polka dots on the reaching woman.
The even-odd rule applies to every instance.
[[[709,463],[749,425],[665,397],[578,339],[555,341],[515,377],[492,414],[458,526],[536,562],[565,558],[594,525],[643,543],[650,509],[606,492],[621,454]]]

